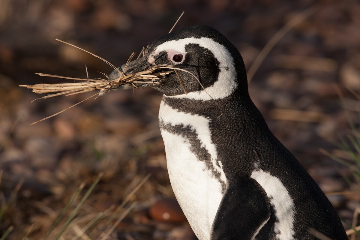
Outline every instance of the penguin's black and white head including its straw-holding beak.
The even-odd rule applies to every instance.
[[[247,93],[246,71],[239,51],[220,32],[208,26],[185,27],[155,40],[145,56],[114,70],[109,80],[120,77],[119,70],[122,72],[124,68],[124,74],[128,75],[160,64],[185,71],[177,70],[179,76],[170,73],[156,84],[133,84],[154,88],[166,96],[196,100],[222,99],[235,91]],[[131,87],[133,85],[126,84],[118,89]]]

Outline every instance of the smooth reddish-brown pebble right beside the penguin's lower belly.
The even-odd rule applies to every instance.
[[[151,218],[165,222],[185,222],[186,217],[176,199],[165,198],[157,200],[149,209]]]

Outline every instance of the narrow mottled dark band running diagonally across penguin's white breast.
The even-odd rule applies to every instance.
[[[213,165],[209,151],[202,146],[202,142],[199,140],[198,133],[192,130],[190,126],[184,126],[183,124],[173,126],[170,123],[165,124],[163,121],[159,121],[159,126],[162,130],[176,135],[180,135],[189,141],[190,151],[195,154],[196,158],[199,161],[205,163],[206,170],[210,170],[213,178],[220,182],[221,193],[224,194],[226,184],[221,179],[221,173],[217,171],[217,169]]]

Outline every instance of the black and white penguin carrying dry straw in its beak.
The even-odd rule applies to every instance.
[[[251,101],[235,46],[211,27],[186,27],[150,44],[125,75],[169,60],[201,84],[177,71],[187,94],[175,73],[135,85],[164,94],[159,126],[171,186],[198,239],[347,239],[325,194]]]

